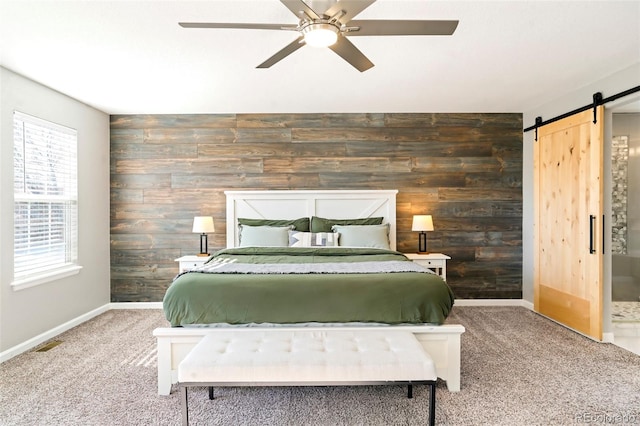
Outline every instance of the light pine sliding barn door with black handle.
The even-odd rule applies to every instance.
[[[534,309],[602,340],[604,108],[538,129]]]

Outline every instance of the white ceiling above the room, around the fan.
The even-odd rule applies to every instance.
[[[111,114],[523,112],[640,62],[640,1],[378,0],[357,19],[457,19],[451,37],[354,37],[358,72],[278,0],[0,0],[0,64]],[[640,76],[639,76],[640,82]],[[610,95],[610,94],[605,94]],[[579,106],[579,105],[578,105]]]

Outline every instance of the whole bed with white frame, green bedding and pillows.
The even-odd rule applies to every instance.
[[[227,249],[178,275],[163,301],[172,327],[154,331],[160,394],[203,336],[230,327],[402,327],[459,390],[464,328],[443,324],[453,294],[442,278],[395,251],[397,191],[225,194]]]

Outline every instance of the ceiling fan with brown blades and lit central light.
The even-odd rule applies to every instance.
[[[293,24],[179,22],[183,28],[234,28],[296,31],[298,38],[256,68],[269,68],[305,44],[328,47],[358,71],[373,63],[347,37],[394,35],[451,35],[458,21],[353,20],[375,0],[280,0],[299,21]],[[320,13],[320,11],[323,11]]]

